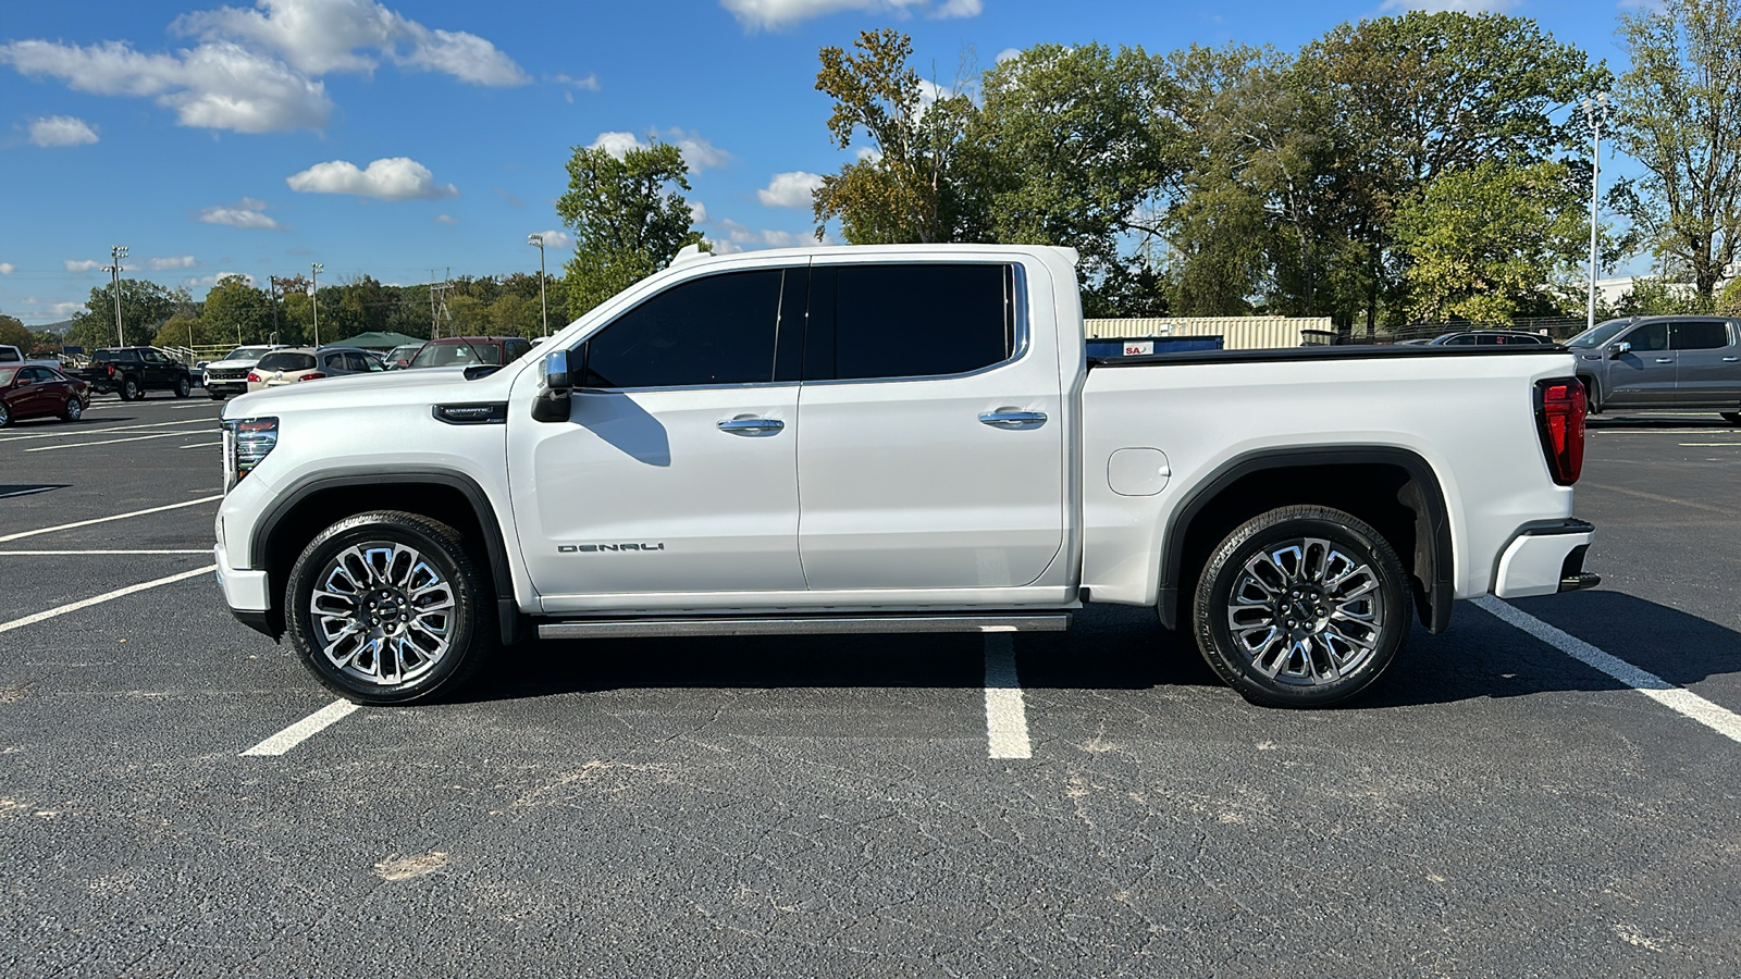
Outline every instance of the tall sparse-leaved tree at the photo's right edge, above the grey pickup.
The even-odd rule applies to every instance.
[[[1663,0],[1623,14],[1619,35],[1619,145],[1647,172],[1616,200],[1711,301],[1741,237],[1741,2]]]

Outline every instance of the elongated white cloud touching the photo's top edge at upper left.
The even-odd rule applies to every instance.
[[[258,0],[252,10],[219,7],[185,14],[172,28],[207,42],[251,44],[310,77],[369,73],[385,59],[475,85],[524,85],[531,80],[487,40],[427,28],[371,0]]]

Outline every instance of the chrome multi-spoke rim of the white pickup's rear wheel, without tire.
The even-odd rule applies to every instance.
[[[1262,676],[1318,686],[1361,669],[1384,632],[1372,566],[1328,540],[1294,538],[1252,556],[1227,594],[1227,631]]]

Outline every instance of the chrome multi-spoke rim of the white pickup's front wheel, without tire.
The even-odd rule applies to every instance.
[[[411,683],[447,655],[454,589],[420,552],[371,542],[327,561],[308,601],[320,653],[380,686]]]

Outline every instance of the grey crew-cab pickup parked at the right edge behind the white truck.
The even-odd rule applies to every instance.
[[[1741,425],[1741,319],[1610,319],[1565,341],[1591,411],[1691,408]]]

